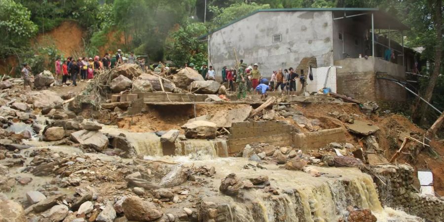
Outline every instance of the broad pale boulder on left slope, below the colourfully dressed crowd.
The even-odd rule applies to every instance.
[[[28,91],[27,96],[30,98],[27,103],[32,103],[34,108],[55,108],[61,107],[63,99],[55,92],[49,90]]]

